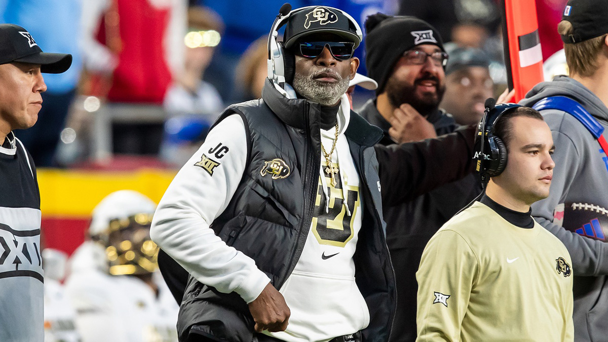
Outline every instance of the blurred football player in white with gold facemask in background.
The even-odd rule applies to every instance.
[[[157,272],[150,240],[156,204],[132,190],[95,207],[89,240],[71,258],[67,293],[83,342],[177,341],[179,307]]]

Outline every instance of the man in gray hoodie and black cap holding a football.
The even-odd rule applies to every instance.
[[[569,76],[539,83],[521,101],[541,112],[553,134],[551,191],[532,215],[572,257],[575,341],[608,336],[607,18],[606,0],[568,1],[558,33]]]

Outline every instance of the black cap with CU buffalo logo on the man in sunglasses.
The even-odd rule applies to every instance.
[[[313,33],[334,33],[358,47],[362,40],[359,24],[342,10],[326,6],[308,6],[296,9],[289,15],[283,41],[292,47],[299,38]]]

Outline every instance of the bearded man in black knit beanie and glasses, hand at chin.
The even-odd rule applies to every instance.
[[[439,109],[445,90],[447,54],[437,30],[412,16],[368,16],[365,22],[368,76],[378,82],[376,99],[359,113],[384,131],[381,145],[451,133],[458,125]],[[390,184],[382,184],[388,187]],[[475,175],[395,203],[382,192],[387,243],[395,265],[398,306],[392,341],[416,339],[416,285],[424,246],[444,223],[481,192]]]

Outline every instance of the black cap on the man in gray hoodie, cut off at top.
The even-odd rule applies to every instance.
[[[608,33],[608,0],[570,0],[562,20],[570,21],[572,34],[562,35],[566,44],[580,43]]]

